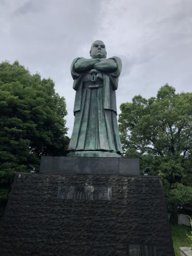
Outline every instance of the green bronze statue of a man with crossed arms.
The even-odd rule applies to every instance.
[[[123,153],[115,94],[122,63],[119,57],[106,59],[106,55],[105,44],[96,40],[91,59],[72,61],[75,120],[67,156],[121,157]]]

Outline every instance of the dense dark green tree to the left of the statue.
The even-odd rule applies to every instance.
[[[18,61],[0,63],[0,202],[6,202],[15,171],[38,170],[43,155],[65,155],[66,103],[54,82]]]

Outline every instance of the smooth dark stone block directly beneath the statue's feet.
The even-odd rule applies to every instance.
[[[40,172],[139,175],[139,158],[42,157]]]

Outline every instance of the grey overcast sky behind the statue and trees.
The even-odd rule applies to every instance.
[[[0,61],[18,60],[54,80],[73,126],[70,66],[96,39],[119,56],[117,106],[169,83],[192,91],[192,0],[0,0]]]

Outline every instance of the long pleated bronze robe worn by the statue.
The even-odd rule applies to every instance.
[[[76,73],[72,62],[71,73],[76,90],[74,103],[74,126],[68,151],[107,151],[122,154],[117,123],[115,90],[121,72],[121,60],[112,57],[117,63],[115,73],[99,73],[97,88],[85,86],[93,84],[92,74]]]

